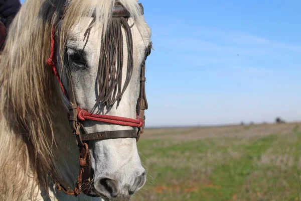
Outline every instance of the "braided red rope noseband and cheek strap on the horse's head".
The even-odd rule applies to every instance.
[[[55,46],[54,35],[55,35],[55,29],[53,28],[52,35],[51,35],[50,56],[47,60],[47,64],[52,68],[52,71],[55,74],[63,93],[68,98],[68,93],[61,81],[61,78],[60,78],[59,73],[55,66],[56,60],[54,57],[54,46]],[[68,100],[69,100],[69,98],[68,98]],[[126,117],[118,117],[118,116],[110,116],[110,115],[97,115],[97,114],[89,113],[86,110],[81,110],[80,108],[77,108],[77,110],[78,110],[77,118],[80,121],[93,120],[93,121],[98,121],[98,122],[105,122],[105,123],[110,123],[110,124],[115,124],[115,125],[131,126],[131,127],[137,127],[137,128],[140,128],[144,125],[143,119],[141,117],[139,117],[138,115],[137,115],[137,119],[131,119],[131,118],[126,118]]]

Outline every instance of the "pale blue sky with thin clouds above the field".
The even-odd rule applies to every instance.
[[[139,2],[146,127],[301,120],[300,1]]]

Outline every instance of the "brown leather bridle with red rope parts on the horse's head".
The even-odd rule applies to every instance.
[[[143,15],[143,7],[139,4],[141,8],[141,15]],[[126,9],[120,5],[115,4],[113,6],[112,18],[129,18],[130,14]],[[141,64],[140,71],[140,92],[139,97],[137,99],[136,105],[136,119],[118,117],[118,116],[109,116],[109,115],[98,115],[89,113],[86,110],[80,109],[76,104],[76,98],[74,94],[73,84],[71,76],[69,78],[68,83],[68,92],[64,87],[63,82],[59,76],[59,73],[56,69],[56,60],[54,55],[55,49],[55,29],[52,29],[51,36],[51,49],[50,49],[50,57],[47,60],[47,64],[52,68],[54,75],[56,76],[62,92],[69,100],[68,105],[68,116],[70,127],[73,131],[73,134],[77,138],[77,146],[79,147],[79,164],[80,170],[77,177],[77,182],[75,185],[75,189],[73,189],[62,177],[60,177],[57,173],[51,171],[49,176],[54,180],[56,187],[58,190],[63,190],[68,195],[78,196],[81,193],[84,193],[88,196],[99,197],[98,194],[92,194],[94,189],[91,176],[91,156],[89,152],[89,147],[87,141],[90,140],[105,140],[105,139],[116,139],[116,138],[136,138],[136,142],[138,142],[140,134],[143,133],[144,128],[144,110],[147,110],[147,100],[145,95],[145,61],[147,56],[150,54],[150,47],[145,52],[144,61]],[[119,130],[119,131],[104,131],[104,132],[96,132],[96,133],[87,133],[82,122],[83,121],[100,121],[115,125],[136,127],[138,131],[135,130]]]

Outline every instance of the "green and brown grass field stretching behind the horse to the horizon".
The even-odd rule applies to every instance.
[[[133,200],[301,200],[301,123],[146,129]]]

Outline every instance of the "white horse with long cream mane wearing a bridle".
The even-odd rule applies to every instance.
[[[130,200],[145,184],[151,30],[137,0],[27,0],[0,62],[0,200]]]

